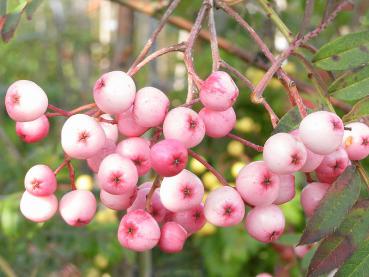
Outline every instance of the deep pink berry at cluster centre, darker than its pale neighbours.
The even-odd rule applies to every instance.
[[[150,157],[152,167],[159,175],[171,177],[186,167],[188,153],[181,141],[165,139],[151,147]]]

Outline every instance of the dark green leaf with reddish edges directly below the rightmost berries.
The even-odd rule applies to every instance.
[[[349,166],[331,185],[310,218],[299,244],[319,241],[337,228],[360,194],[361,178],[355,166]]]

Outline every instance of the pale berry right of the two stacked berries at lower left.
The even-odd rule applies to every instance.
[[[68,225],[79,227],[89,224],[96,212],[95,196],[88,190],[72,190],[61,198],[59,211]]]

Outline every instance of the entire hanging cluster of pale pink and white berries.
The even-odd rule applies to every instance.
[[[190,105],[169,109],[170,101],[162,91],[153,87],[136,91],[128,74],[113,71],[97,80],[95,103],[66,112],[49,105],[45,92],[35,83],[13,83],[5,105],[25,142],[47,136],[48,117],[68,117],[61,130],[66,159],[55,171],[47,165],[29,169],[21,212],[29,220],[44,222],[59,210],[71,226],[88,224],[97,206],[92,192],[77,190],[72,184],[59,203],[54,195],[59,170],[71,169],[71,159],[79,159],[86,160],[97,174],[101,203],[126,210],[118,229],[118,240],[125,248],[145,251],[158,245],[164,252],[179,252],[206,221],[222,227],[239,224],[245,217],[245,204],[252,207],[245,219],[248,233],[265,243],[278,239],[285,226],[278,205],[295,195],[293,174],[316,173],[319,182],[308,184],[301,196],[305,213],[311,216],[350,160],[368,156],[369,128],[362,123],[344,128],[337,115],[326,111],[309,114],[298,130],[271,136],[264,146],[264,160],[243,167],[235,188],[217,176],[223,178],[224,186],[211,191],[203,204],[201,180],[185,169],[188,156],[197,157],[190,148],[205,135],[220,138],[229,134],[236,122],[232,106],[238,94],[231,77],[215,71],[201,82],[204,107],[199,113]],[[85,108],[90,110],[82,113]],[[55,113],[46,113],[47,109]],[[141,137],[150,129],[151,140]],[[118,143],[119,133],[124,139]],[[212,168],[201,157],[199,161]],[[150,169],[156,172],[155,180],[137,186],[139,177]]]

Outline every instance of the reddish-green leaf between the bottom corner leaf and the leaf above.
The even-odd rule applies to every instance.
[[[308,276],[319,276],[339,267],[368,234],[369,200],[362,200],[351,209],[340,227],[320,244],[310,263]]]

